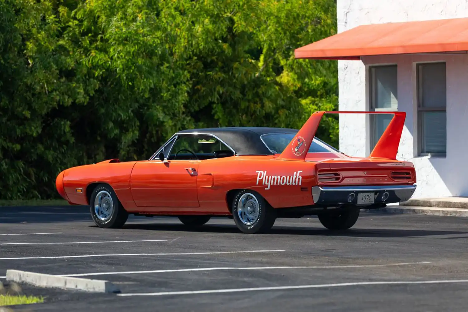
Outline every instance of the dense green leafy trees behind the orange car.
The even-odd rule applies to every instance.
[[[180,129],[299,128],[336,109],[337,69],[293,51],[335,31],[335,0],[0,0],[0,198]]]

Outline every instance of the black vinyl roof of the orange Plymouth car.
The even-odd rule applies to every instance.
[[[183,134],[207,134],[218,137],[229,145],[236,155],[272,155],[260,138],[268,133],[297,133],[297,129],[268,128],[268,127],[223,127],[183,130],[176,135]]]

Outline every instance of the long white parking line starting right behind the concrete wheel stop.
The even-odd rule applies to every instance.
[[[369,264],[369,265],[335,265],[335,266],[300,266],[300,267],[251,267],[251,268],[181,268],[181,269],[168,269],[168,270],[152,270],[152,271],[124,271],[124,272],[98,272],[98,273],[83,273],[83,274],[66,274],[60,276],[92,276],[92,275],[117,275],[117,274],[143,274],[143,273],[168,273],[168,272],[193,272],[193,271],[218,271],[218,270],[273,270],[273,269],[294,269],[294,268],[375,268],[375,267],[390,267],[398,265],[409,264],[426,264],[431,263],[428,261],[423,262],[401,262],[389,264]]]

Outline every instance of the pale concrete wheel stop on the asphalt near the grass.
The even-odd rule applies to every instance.
[[[56,276],[42,273],[7,270],[7,281],[27,283],[38,287],[83,290],[89,292],[120,292],[109,281],[91,280],[87,278]]]

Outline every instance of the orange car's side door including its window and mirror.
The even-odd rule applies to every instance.
[[[187,211],[196,211],[198,165],[215,158],[225,146],[211,135],[181,134],[161,148],[164,161],[156,155],[157,160],[136,163],[131,188],[137,207],[192,207]]]

